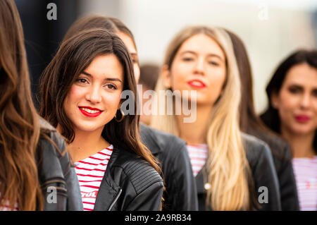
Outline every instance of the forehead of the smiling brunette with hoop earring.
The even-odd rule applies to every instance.
[[[123,79],[123,66],[115,54],[97,56],[92,60],[85,72],[94,78],[120,78]]]

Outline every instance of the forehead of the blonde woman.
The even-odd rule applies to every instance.
[[[186,39],[178,52],[182,54],[184,51],[194,51],[199,54],[217,54],[225,59],[225,54],[219,44],[214,39],[204,34],[193,35]]]

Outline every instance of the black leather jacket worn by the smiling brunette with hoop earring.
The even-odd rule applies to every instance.
[[[159,173],[137,154],[113,146],[94,210],[157,211],[162,195]]]

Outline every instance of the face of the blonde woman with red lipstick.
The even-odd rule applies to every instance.
[[[163,82],[173,91],[197,91],[197,105],[213,105],[226,78],[225,54],[211,37],[198,34],[182,43]],[[190,99],[189,99],[190,100]]]

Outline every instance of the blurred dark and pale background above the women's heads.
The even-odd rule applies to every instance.
[[[254,100],[266,107],[265,87],[275,66],[299,48],[317,47],[317,0],[15,0],[35,97],[38,79],[77,18],[119,18],[135,35],[139,63],[161,66],[166,47],[187,25],[214,25],[239,35],[254,73]],[[47,14],[56,5],[56,20]],[[243,87],[242,87],[243,88]],[[37,104],[37,99],[35,99]]]

